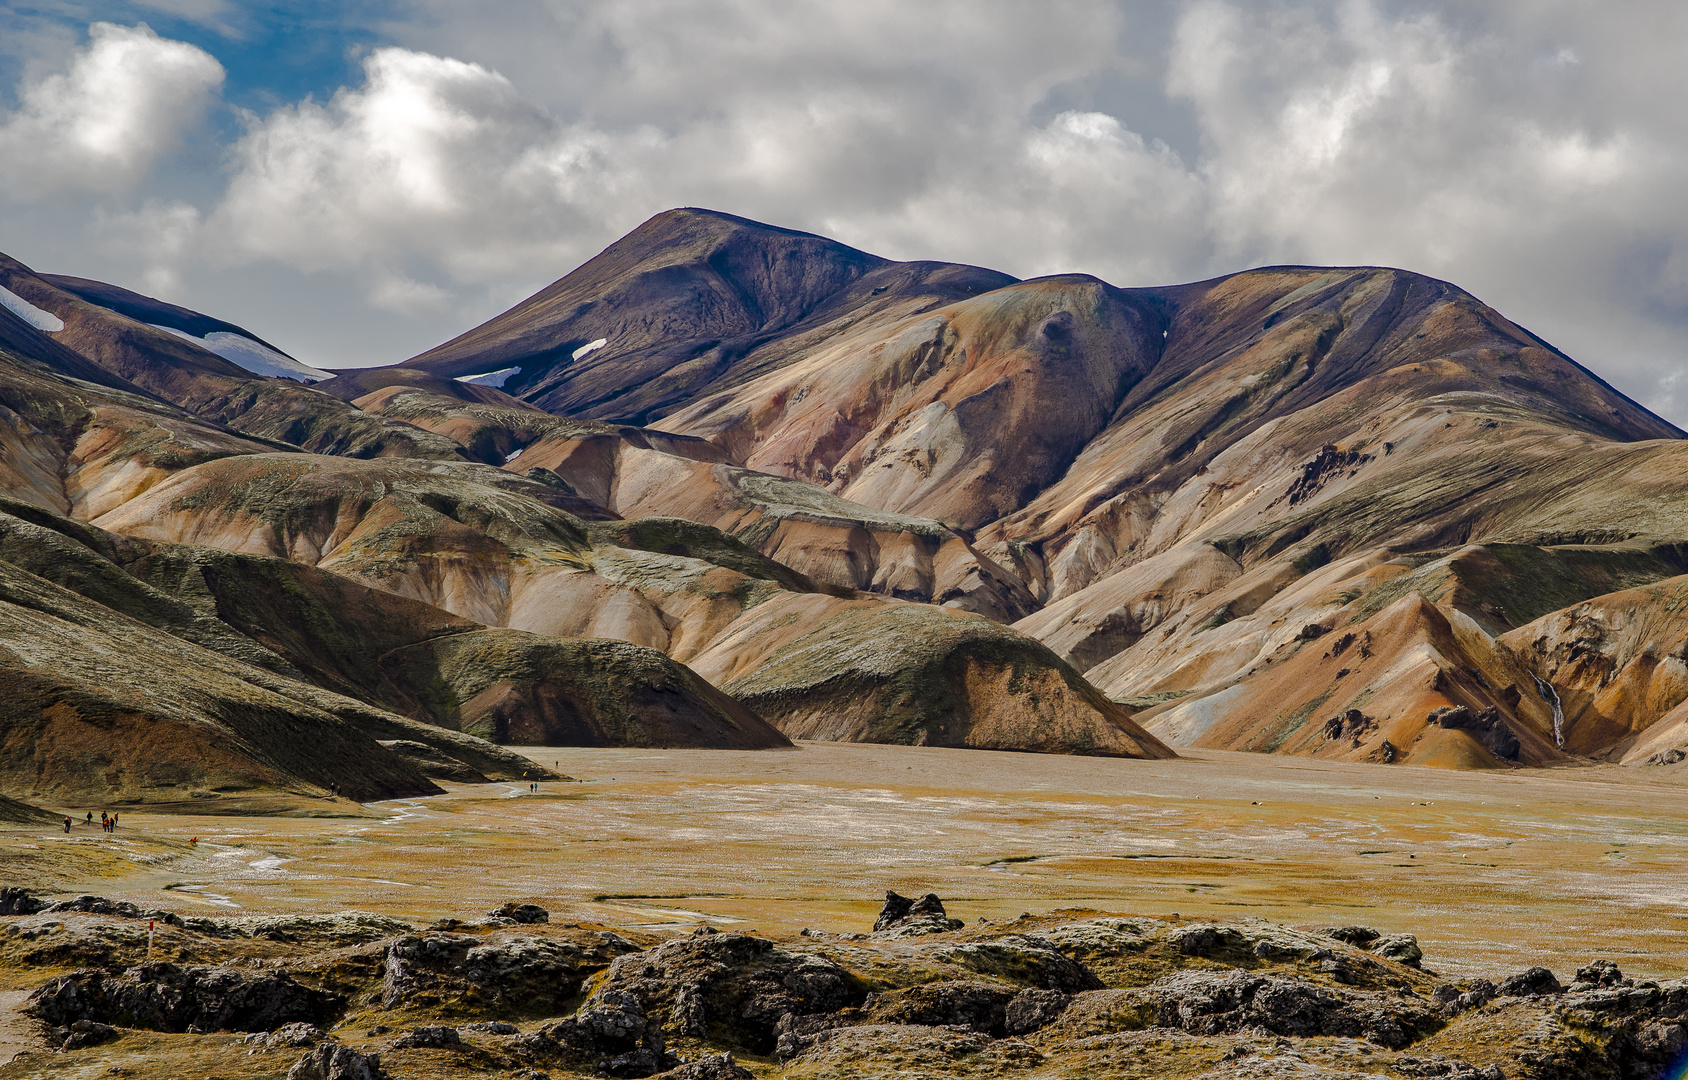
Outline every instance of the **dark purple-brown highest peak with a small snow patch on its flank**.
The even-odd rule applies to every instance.
[[[517,368],[501,388],[547,412],[645,424],[716,386],[758,346],[800,338],[856,305],[888,307],[898,302],[890,294],[949,300],[1009,282],[677,209],[407,366],[451,378]],[[599,356],[598,343],[609,341]]]

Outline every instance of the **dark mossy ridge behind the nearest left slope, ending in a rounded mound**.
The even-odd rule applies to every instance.
[[[3,510],[0,559],[8,569],[51,579],[98,604],[79,621],[88,650],[98,651],[96,634],[110,634],[98,613],[113,626],[135,619],[238,662],[236,672],[252,668],[236,680],[257,678],[319,707],[333,702],[331,710],[349,716],[368,739],[422,742],[486,778],[533,766],[454,731],[498,742],[571,746],[787,744],[748,709],[655,650],[490,631],[280,559],[133,540],[19,503],[3,503]],[[76,640],[76,633],[61,633],[49,655],[30,662],[32,670],[49,660],[81,665],[95,685],[98,660],[78,651]],[[132,670],[113,670],[113,677],[116,694],[147,682]],[[51,719],[57,702],[44,697],[34,707]],[[184,709],[184,716],[216,714],[203,702]],[[263,717],[252,722],[268,724]],[[138,746],[155,753],[160,742]],[[385,756],[378,748],[371,753]],[[353,790],[351,781],[341,783]]]

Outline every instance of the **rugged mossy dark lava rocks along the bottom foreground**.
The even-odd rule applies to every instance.
[[[1364,926],[964,925],[895,893],[871,932],[792,940],[660,938],[522,903],[419,928],[15,888],[0,918],[32,1041],[0,1077],[1653,1080],[1688,1051],[1688,979],[1600,958],[1568,986],[1539,967],[1445,979],[1413,937]]]

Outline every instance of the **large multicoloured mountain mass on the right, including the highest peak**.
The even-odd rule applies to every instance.
[[[576,424],[704,440],[724,461],[685,451],[689,483],[650,479],[625,449],[599,452],[589,479],[582,437],[503,452],[572,467],[606,506],[707,520],[817,580],[962,596],[942,574],[906,592],[878,564],[863,574],[864,552],[885,552],[874,515],[932,521],[987,584],[967,609],[1043,641],[1175,744],[1553,763],[1622,754],[1681,700],[1666,688],[1620,727],[1590,712],[1555,734],[1556,668],[1506,634],[1688,570],[1683,432],[1457,285],[1404,270],[1018,282],[679,209],[395,368],[412,370],[500,373],[505,393]],[[400,415],[439,429],[473,412],[432,408]],[[824,515],[792,513],[802,538],[787,547],[738,476],[864,510],[819,535]],[[864,532],[873,545],[832,538]],[[891,565],[940,562],[925,550]],[[1396,602],[1408,594],[1428,608]],[[1347,634],[1396,641],[1433,672],[1408,694],[1369,648],[1327,678]],[[1290,665],[1315,646],[1303,663],[1320,665]],[[1485,665],[1496,685],[1462,675]],[[1315,737],[1355,709],[1357,744]],[[1489,727],[1445,727],[1438,709]],[[1485,734],[1494,722],[1509,737]]]

